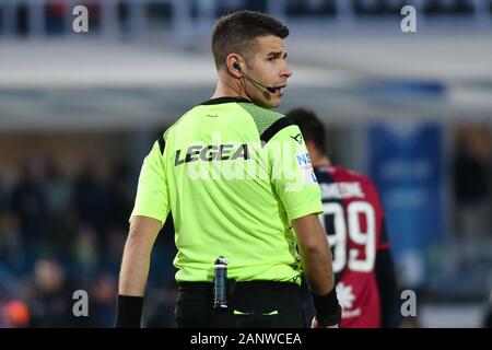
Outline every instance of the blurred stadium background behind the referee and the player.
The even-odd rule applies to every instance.
[[[89,33],[72,31],[73,7]],[[417,8],[417,33],[400,9]],[[481,327],[492,290],[492,1],[0,0],[0,327],[110,327],[144,154],[213,92],[210,33],[238,9],[281,18],[294,70],[280,112],[327,125],[329,154],[373,177],[401,326]],[[173,228],[144,323],[173,327]],[[72,293],[90,317],[72,316]]]

